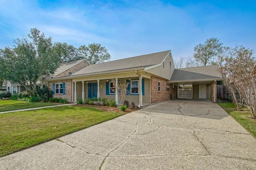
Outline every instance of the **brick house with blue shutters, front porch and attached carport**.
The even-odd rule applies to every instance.
[[[203,67],[202,67],[203,68]],[[207,70],[202,69],[198,74],[205,74]],[[212,67],[209,67],[212,68]],[[217,74],[217,67],[212,68],[212,72]],[[108,100],[118,100],[117,94],[114,92],[114,86],[112,80],[120,82],[121,84],[129,83],[128,91],[129,95],[125,100],[129,102],[135,102],[140,106],[146,104],[161,102],[172,98],[177,98],[177,87],[179,87],[179,80],[174,81],[172,76],[177,72],[172,59],[171,51],[162,51],[159,53],[152,53],[147,55],[141,55],[137,57],[130,57],[126,59],[120,59],[116,61],[109,61],[99,64],[85,65],[85,68],[80,69],[77,72],[73,72],[72,75],[57,74],[53,78],[47,79],[49,88],[53,91],[54,97],[66,98],[69,102],[76,102],[79,99],[85,100],[86,98],[100,97],[108,98]],[[186,70],[185,70],[186,71]],[[189,72],[189,71],[188,71]],[[195,71],[196,73],[196,71]],[[58,76],[60,75],[60,76]],[[194,74],[193,74],[194,75]],[[193,76],[192,75],[192,76]],[[189,74],[189,76],[191,76]],[[201,81],[197,80],[196,75],[190,80],[184,80],[182,85],[191,85],[191,90],[194,89],[194,98],[199,98],[199,84],[200,90],[206,86],[209,89],[209,85],[214,86],[215,80],[220,80],[217,75],[210,76],[206,74],[206,78]],[[198,76],[198,75],[197,75]],[[195,80],[195,81],[194,81]],[[199,83],[200,82],[200,83]],[[193,87],[193,84],[196,86]],[[196,91],[196,89],[198,89]],[[207,91],[208,92],[208,91]],[[210,92],[213,92],[210,90]],[[209,95],[210,92],[207,94]],[[215,91],[216,92],[216,91]],[[196,93],[198,94],[196,96]],[[209,98],[209,96],[200,96],[200,98]],[[210,94],[210,98],[213,98],[213,94]],[[193,98],[193,96],[185,96],[186,98]],[[214,100],[212,100],[214,101]]]

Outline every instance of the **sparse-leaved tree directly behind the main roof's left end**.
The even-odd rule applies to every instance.
[[[102,63],[104,61],[110,61],[110,54],[105,47],[102,47],[101,44],[89,44],[88,47],[81,45],[78,48],[79,55],[82,58],[87,59],[90,64]]]

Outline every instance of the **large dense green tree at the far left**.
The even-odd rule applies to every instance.
[[[36,82],[53,74],[59,64],[52,55],[52,38],[32,28],[14,44],[0,49],[0,78],[18,82],[29,94],[36,95]]]

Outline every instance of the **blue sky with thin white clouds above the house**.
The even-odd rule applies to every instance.
[[[256,48],[256,1],[0,0],[0,48],[36,27],[75,47],[100,43],[111,60],[171,50],[174,59],[217,37]]]

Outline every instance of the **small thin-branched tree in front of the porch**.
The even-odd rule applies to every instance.
[[[121,84],[120,81],[118,83],[116,83],[116,80],[114,80],[114,79],[112,79],[111,82],[113,83],[113,86],[115,87],[115,89],[113,89],[113,90],[118,95],[117,107],[120,107],[124,104],[124,99],[125,99],[126,95],[130,94],[128,91],[129,82]]]

